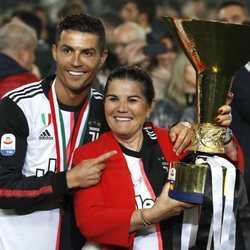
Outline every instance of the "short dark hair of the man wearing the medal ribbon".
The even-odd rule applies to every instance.
[[[64,30],[74,30],[97,35],[99,38],[100,52],[103,52],[106,48],[104,26],[100,19],[92,15],[79,14],[65,17],[58,25],[56,42],[60,40],[60,36]]]

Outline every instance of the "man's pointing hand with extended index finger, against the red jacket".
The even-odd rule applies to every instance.
[[[81,163],[69,170],[66,173],[68,188],[86,188],[96,185],[101,179],[102,170],[105,168],[105,160],[116,153],[117,151],[113,150],[102,154],[97,158],[83,160]]]

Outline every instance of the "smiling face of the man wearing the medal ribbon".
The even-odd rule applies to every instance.
[[[64,30],[52,47],[57,62],[56,86],[64,95],[84,95],[91,87],[107,52],[100,53],[98,36]]]

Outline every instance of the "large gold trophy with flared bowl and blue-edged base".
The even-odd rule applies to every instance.
[[[188,149],[211,155],[224,153],[226,129],[214,118],[226,103],[234,74],[250,60],[250,26],[192,18],[162,19],[196,71],[197,123],[192,125]],[[202,203],[208,166],[171,165],[170,197]],[[193,175],[199,178],[191,178]],[[188,184],[190,181],[196,184]]]

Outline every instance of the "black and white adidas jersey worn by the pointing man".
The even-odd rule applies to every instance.
[[[0,248],[55,249],[61,197],[70,192],[66,171],[56,172],[55,132],[48,99],[54,76],[15,89],[0,102]],[[107,130],[103,97],[91,90],[83,143]],[[81,106],[59,104],[70,138],[69,117]],[[27,237],[28,235],[28,237]]]

